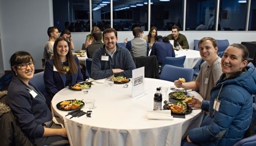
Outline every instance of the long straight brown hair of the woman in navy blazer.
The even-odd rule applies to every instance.
[[[58,72],[60,74],[66,74],[66,70],[63,68],[61,62],[59,61],[60,59],[59,59],[59,55],[57,53],[57,44],[58,44],[59,41],[62,41],[62,40],[66,41],[68,43],[68,46],[69,46],[69,52],[66,55],[66,57],[67,57],[67,61],[68,61],[68,64],[69,64],[70,72],[71,72],[71,74],[76,74],[76,72],[78,70],[77,63],[75,62],[75,59],[74,59],[73,54],[71,52],[70,42],[68,41],[67,38],[58,37],[54,42],[54,45],[53,45],[54,66],[56,67],[56,69],[58,70]]]

